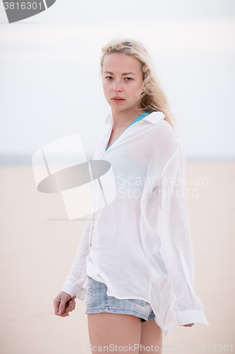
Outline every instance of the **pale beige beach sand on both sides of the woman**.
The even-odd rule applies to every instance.
[[[85,300],[76,299],[76,310],[65,318],[54,314],[53,304],[88,216],[69,221],[61,195],[37,191],[31,166],[1,167],[0,174],[0,352],[91,353]],[[231,353],[231,345],[235,350],[235,161],[188,162],[186,177],[195,292],[210,326],[176,324],[163,338],[163,351]],[[196,180],[199,185],[193,184]]]

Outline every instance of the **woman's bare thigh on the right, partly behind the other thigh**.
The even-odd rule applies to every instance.
[[[140,350],[140,353],[146,353],[147,351],[149,353],[162,353],[162,329],[157,326],[153,319],[147,322],[141,322],[140,344],[144,347]],[[146,347],[150,347],[151,349],[147,348],[146,350]],[[157,347],[159,349],[157,349]]]

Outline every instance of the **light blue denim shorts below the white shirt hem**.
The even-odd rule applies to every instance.
[[[88,276],[87,299],[85,314],[132,314],[140,317],[142,322],[155,319],[150,304],[141,299],[117,299],[107,295],[107,285],[97,282]]]

